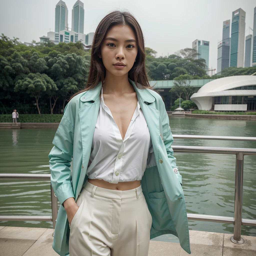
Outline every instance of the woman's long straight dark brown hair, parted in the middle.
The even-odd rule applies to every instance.
[[[143,37],[140,24],[137,22],[135,17],[129,12],[121,12],[119,10],[116,10],[114,12],[107,14],[100,21],[95,31],[93,42],[92,42],[90,71],[89,71],[86,87],[76,92],[75,94],[73,94],[68,99],[68,101],[70,101],[75,95],[94,88],[100,81],[102,82],[102,85],[103,85],[103,81],[106,75],[106,69],[103,65],[102,59],[99,58],[100,47],[108,30],[111,27],[115,25],[120,25],[120,24],[127,25],[133,30],[133,32],[136,35],[137,44],[138,44],[138,53],[136,57],[136,62],[134,62],[133,67],[128,72],[128,77],[135,82],[136,86],[137,86],[137,83],[140,83],[143,87],[152,89],[152,87],[148,82],[147,73],[145,70],[145,60],[146,60],[145,43],[144,43],[144,37]]]

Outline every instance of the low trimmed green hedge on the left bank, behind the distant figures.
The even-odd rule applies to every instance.
[[[19,123],[59,123],[63,114],[19,114]],[[12,123],[11,114],[0,115],[0,123]]]

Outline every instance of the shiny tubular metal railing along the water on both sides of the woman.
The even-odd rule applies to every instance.
[[[201,135],[173,135],[174,138],[183,139],[206,139],[206,140],[235,140],[235,141],[256,141],[256,137],[230,137],[230,136],[201,136]],[[236,155],[235,173],[235,198],[234,217],[213,216],[202,214],[187,214],[188,220],[202,220],[234,225],[234,235],[230,240],[236,244],[244,243],[241,238],[241,226],[256,226],[256,220],[242,219],[242,194],[243,194],[243,160],[244,155],[256,156],[256,149],[253,148],[223,148],[223,147],[197,147],[197,146],[172,146],[175,153],[205,153],[205,154],[231,154]],[[1,179],[47,179],[50,174],[0,174]],[[52,216],[0,216],[2,220],[38,220],[53,221],[56,225],[58,213],[58,199],[51,187],[51,208]]]

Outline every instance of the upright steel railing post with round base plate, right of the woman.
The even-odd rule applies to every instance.
[[[236,244],[243,244],[241,238],[242,226],[242,198],[243,198],[243,153],[236,154],[236,177],[235,177],[235,204],[234,204],[234,236],[230,240]]]

